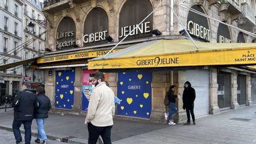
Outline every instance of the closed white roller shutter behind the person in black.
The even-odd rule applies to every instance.
[[[187,70],[186,80],[196,90],[195,116],[209,113],[209,71],[208,70]]]

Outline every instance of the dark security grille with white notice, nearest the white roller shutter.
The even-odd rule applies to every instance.
[[[221,110],[229,109],[231,106],[231,76],[229,73],[220,71],[218,82],[218,106]]]

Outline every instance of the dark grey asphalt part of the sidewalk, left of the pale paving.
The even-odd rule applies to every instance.
[[[4,112],[4,109],[0,109],[0,114],[0,129],[11,131],[13,122],[12,108],[7,109],[6,113]],[[88,129],[87,125],[84,125],[84,119],[84,115],[65,114],[62,116],[61,114],[50,113],[45,124],[45,130],[48,137],[53,140],[69,137],[70,143],[87,143]],[[112,140],[116,141],[165,127],[166,125],[164,124],[115,118],[112,129]],[[32,123],[32,132],[35,134],[37,133],[35,121]]]

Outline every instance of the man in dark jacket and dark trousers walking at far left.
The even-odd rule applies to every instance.
[[[14,107],[14,120],[12,124],[16,143],[22,143],[20,126],[23,124],[25,129],[25,144],[30,144],[31,124],[34,117],[34,108],[36,103],[36,94],[29,90],[30,83],[24,83],[22,90],[19,91],[12,102]]]

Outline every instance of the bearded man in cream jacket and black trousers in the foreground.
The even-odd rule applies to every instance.
[[[104,144],[111,143],[111,129],[115,115],[115,94],[106,86],[103,73],[91,74],[95,85],[88,106],[86,123],[88,123],[88,144],[96,144],[99,136]]]

